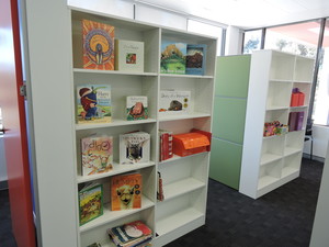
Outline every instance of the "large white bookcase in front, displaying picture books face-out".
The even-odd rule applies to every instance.
[[[102,246],[112,246],[106,229],[135,220],[144,221],[154,231],[154,246],[169,242],[205,224],[206,195],[209,153],[190,157],[178,157],[159,162],[159,130],[172,131],[173,134],[186,133],[192,128],[212,131],[212,111],[214,98],[214,70],[216,57],[216,38],[191,34],[141,23],[133,20],[70,8],[72,30],[72,114],[76,114],[76,87],[86,83],[110,85],[112,91],[112,123],[76,124],[75,149],[76,160],[76,212],[78,212],[78,186],[97,181],[104,188],[104,214],[78,229],[79,246],[84,247],[94,242]],[[115,38],[145,43],[145,71],[122,72],[116,70],[90,70],[81,66],[82,26],[87,19],[106,23],[115,27]],[[206,44],[205,76],[164,75],[160,74],[161,41],[169,40],[189,44]],[[158,113],[159,92],[163,89],[191,91],[191,112],[184,115],[160,116]],[[126,121],[125,108],[127,96],[147,96],[149,119]],[[118,135],[131,131],[145,131],[150,134],[150,161],[137,165],[118,165]],[[81,176],[80,139],[92,133],[113,136],[114,169],[107,173]],[[111,177],[128,171],[143,175],[141,209],[116,211],[110,210]],[[157,171],[163,179],[164,200],[157,201]],[[79,223],[77,222],[77,225]]]

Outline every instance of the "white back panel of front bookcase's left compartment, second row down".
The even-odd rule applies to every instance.
[[[157,100],[157,77],[144,76],[122,76],[104,74],[75,74],[75,86],[82,85],[110,85],[112,119],[126,120],[126,97],[146,96],[148,97],[149,117],[156,119]],[[76,104],[79,103],[77,92],[75,92]],[[77,106],[76,106],[77,108]]]

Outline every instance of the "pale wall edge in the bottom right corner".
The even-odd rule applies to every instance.
[[[328,142],[327,142],[328,146]],[[329,148],[327,149],[327,158],[325,162],[322,181],[318,198],[317,211],[315,215],[310,247],[324,247],[329,243]]]

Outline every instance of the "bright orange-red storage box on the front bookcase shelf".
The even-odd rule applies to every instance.
[[[172,151],[178,156],[184,157],[211,150],[212,134],[209,132],[192,130],[190,133],[172,137]]]

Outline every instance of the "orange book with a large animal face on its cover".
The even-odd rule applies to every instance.
[[[111,178],[112,211],[140,209],[141,206],[141,175],[128,173]]]

